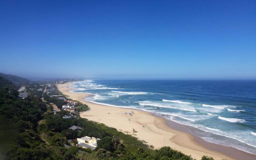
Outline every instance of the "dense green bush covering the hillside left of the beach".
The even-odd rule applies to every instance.
[[[53,114],[52,106],[42,101],[42,92],[36,91],[39,86],[29,86],[29,97],[25,99],[18,98],[16,90],[0,88],[0,159],[193,160],[191,156],[170,147],[149,149],[136,137],[80,118],[79,115],[63,119],[62,116],[69,112],[61,110]],[[73,125],[82,127],[82,131],[68,129]],[[64,147],[68,144],[67,140],[82,136],[94,136],[101,140],[93,151],[76,146]],[[202,159],[212,160],[206,156]]]

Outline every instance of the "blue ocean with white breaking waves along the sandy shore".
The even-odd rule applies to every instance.
[[[138,108],[205,132],[204,140],[256,154],[255,80],[85,80],[86,100]]]

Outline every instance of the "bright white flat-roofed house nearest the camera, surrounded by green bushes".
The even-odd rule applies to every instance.
[[[91,148],[91,150],[94,150],[97,147],[97,142],[100,139],[96,139],[95,137],[81,137],[77,138],[77,143],[76,146],[78,147],[83,147],[83,148]]]

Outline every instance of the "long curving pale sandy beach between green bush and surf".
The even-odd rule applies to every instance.
[[[204,141],[200,137],[190,134],[187,126],[155,116],[150,112],[84,101],[84,98],[90,94],[69,92],[72,89],[67,87],[71,83],[60,84],[58,89],[70,99],[78,100],[90,107],[88,112],[80,114],[82,118],[104,123],[118,131],[131,134],[155,148],[170,146],[198,160],[203,155],[213,157],[215,160],[256,159],[256,155]],[[135,114],[132,116],[122,114],[124,112],[134,112]],[[132,132],[133,129],[137,132]]]

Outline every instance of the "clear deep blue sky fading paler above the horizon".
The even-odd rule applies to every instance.
[[[256,1],[0,1],[0,72],[256,79]]]

